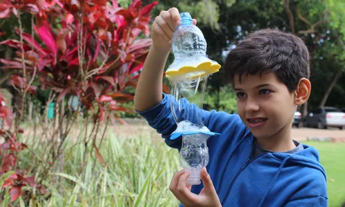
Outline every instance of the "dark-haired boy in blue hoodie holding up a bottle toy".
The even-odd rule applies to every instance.
[[[176,124],[170,95],[162,95],[170,39],[181,23],[171,8],[152,25],[152,47],[135,94],[135,108],[166,144]],[[196,23],[196,20],[193,20]],[[225,77],[237,93],[239,115],[202,110],[205,126],[221,135],[208,139],[210,161],[203,184],[186,186],[189,172],[175,173],[170,190],[184,206],[327,206],[326,173],[315,148],[291,137],[293,115],[311,92],[308,50],[292,34],[262,30],[230,51]],[[182,99],[181,117],[195,122],[201,110]]]

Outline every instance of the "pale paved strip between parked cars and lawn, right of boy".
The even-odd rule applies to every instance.
[[[293,139],[305,141],[307,139],[325,139],[333,142],[345,142],[345,130],[329,128],[319,130],[315,128],[293,128]]]

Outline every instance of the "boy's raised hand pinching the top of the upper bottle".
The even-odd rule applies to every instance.
[[[197,21],[193,19],[193,24],[196,23]],[[170,51],[172,33],[180,24],[181,19],[177,8],[162,11],[152,25],[152,46],[160,50]]]

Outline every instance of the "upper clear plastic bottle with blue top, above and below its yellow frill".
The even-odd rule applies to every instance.
[[[206,39],[201,30],[193,25],[193,19],[188,12],[181,12],[181,25],[172,34],[171,45],[174,53],[174,62],[169,66],[168,70],[179,70],[184,66],[198,66],[199,63],[210,61],[206,57]],[[170,77],[172,83],[171,94],[179,101],[186,98],[190,103],[195,103],[202,108],[204,103],[204,93],[206,90],[207,70],[197,70],[190,72],[181,72],[179,75]],[[173,104],[173,103],[171,103]],[[178,124],[179,106],[171,106],[172,115]],[[199,121],[195,124],[203,126],[201,114]]]

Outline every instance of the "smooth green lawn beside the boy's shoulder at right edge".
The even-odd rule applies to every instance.
[[[329,206],[339,207],[345,202],[345,143],[304,141],[319,151],[327,175]]]

